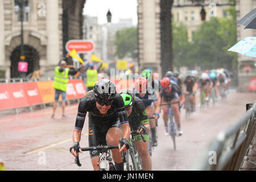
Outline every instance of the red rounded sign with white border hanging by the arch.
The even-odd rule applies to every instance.
[[[69,40],[66,43],[66,50],[71,52],[73,49],[77,53],[86,53],[94,50],[94,43],[91,40]]]

